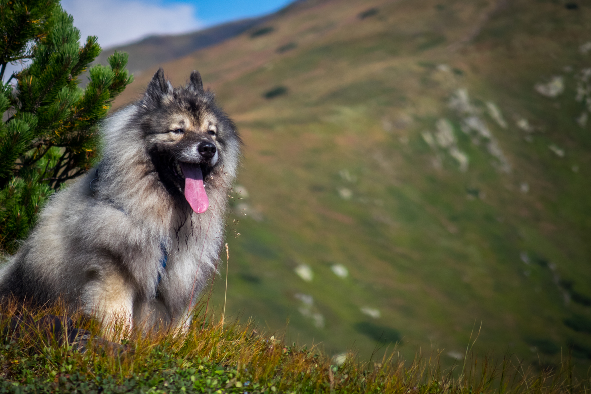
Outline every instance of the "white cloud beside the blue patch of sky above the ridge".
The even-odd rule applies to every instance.
[[[202,26],[194,5],[142,0],[63,0],[82,41],[96,35],[103,48],[126,44],[151,34],[180,34]]]

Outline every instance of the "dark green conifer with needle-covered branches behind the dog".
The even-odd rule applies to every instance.
[[[132,81],[127,54],[100,52],[59,0],[0,0],[0,249],[14,252],[47,197],[96,162],[97,123]],[[4,75],[8,64],[21,71]]]

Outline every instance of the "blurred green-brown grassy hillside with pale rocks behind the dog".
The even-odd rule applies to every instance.
[[[589,41],[584,2],[310,0],[165,64],[245,140],[226,312],[447,364],[482,324],[480,353],[589,367]]]

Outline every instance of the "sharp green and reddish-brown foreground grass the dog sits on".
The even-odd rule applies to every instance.
[[[379,360],[359,362],[354,353],[339,362],[319,346],[288,346],[252,324],[224,324],[197,307],[186,333],[121,332],[125,351],[90,339],[77,352],[47,331],[7,331],[14,310],[0,324],[0,393],[587,393],[591,380],[573,377],[571,359],[525,368],[515,356],[501,362],[479,357],[471,346],[463,362],[443,369],[441,354],[418,353],[411,362],[390,349]],[[23,313],[21,311],[21,313]],[[38,320],[63,310],[24,312]],[[23,315],[21,315],[23,316]],[[100,336],[99,324],[73,316],[74,326]],[[95,337],[96,338],[96,337]],[[60,344],[63,343],[63,344]],[[102,346],[102,347],[101,347]]]

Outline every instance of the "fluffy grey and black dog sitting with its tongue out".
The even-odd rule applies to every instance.
[[[100,133],[98,167],[50,198],[0,270],[0,298],[186,329],[223,243],[235,124],[197,71],[175,88],[160,68]]]

